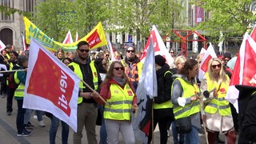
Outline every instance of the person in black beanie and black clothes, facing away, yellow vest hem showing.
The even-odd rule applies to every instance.
[[[160,143],[167,143],[167,123],[174,121],[173,104],[170,102],[170,91],[173,83],[171,78],[172,73],[170,72],[170,66],[166,64],[166,59],[161,55],[156,55],[155,59],[155,70],[158,82],[158,95],[154,97],[153,103],[153,122],[155,126],[159,127],[160,130]],[[150,144],[152,139],[152,125],[150,125],[150,134],[148,143]]]

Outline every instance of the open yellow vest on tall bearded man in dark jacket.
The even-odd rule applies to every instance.
[[[74,74],[77,74],[79,78],[83,79],[82,71],[80,69],[80,66],[78,63],[71,62],[68,66],[74,67]],[[90,69],[93,74],[93,82],[94,82],[94,90],[98,90],[98,73],[94,66],[94,62],[90,62]],[[80,81],[79,83],[79,90],[82,91],[82,89],[86,88],[86,86],[83,86],[83,83]],[[78,96],[78,104],[82,102],[82,97]]]

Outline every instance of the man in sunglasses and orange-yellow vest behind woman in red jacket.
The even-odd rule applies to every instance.
[[[126,75],[130,78],[130,81],[133,82],[134,90],[137,90],[138,87],[138,79],[142,74],[142,62],[135,55],[135,47],[130,45],[126,48]]]

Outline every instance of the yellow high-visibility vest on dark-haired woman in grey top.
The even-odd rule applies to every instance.
[[[194,85],[191,85],[189,82],[186,82],[182,78],[175,78],[174,81],[181,82],[182,85],[182,98],[190,98],[194,96],[195,94],[199,95],[199,88],[197,83],[194,83]],[[172,87],[173,90],[173,87]],[[200,111],[200,102],[199,99],[197,101],[193,101],[191,103],[186,104],[184,107],[174,105],[174,117],[175,119],[178,118],[186,118],[189,117],[192,114],[196,114]]]

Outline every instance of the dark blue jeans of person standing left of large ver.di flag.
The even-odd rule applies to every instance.
[[[18,104],[18,114],[16,117],[16,126],[18,130],[18,134],[22,134],[22,132],[25,130],[24,114],[26,113],[26,109],[22,108],[23,99],[17,99],[17,104]]]

